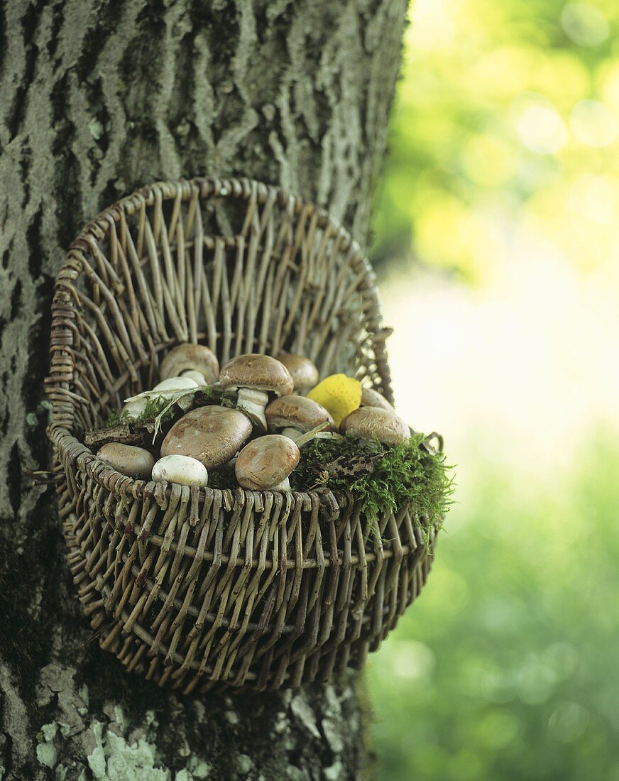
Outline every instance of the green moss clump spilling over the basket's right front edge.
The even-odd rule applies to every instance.
[[[410,505],[420,523],[426,544],[432,526],[442,526],[450,505],[453,480],[442,453],[422,447],[423,434],[386,448],[378,440],[314,439],[301,448],[301,461],[290,476],[293,490],[311,490],[318,485],[346,491],[361,502],[363,512],[378,518]]]

